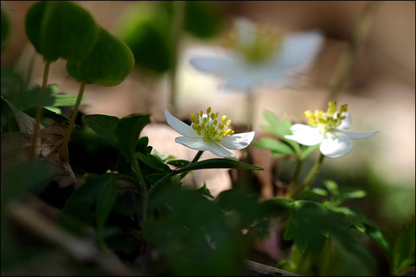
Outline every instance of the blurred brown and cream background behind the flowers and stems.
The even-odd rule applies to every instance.
[[[28,43],[24,27],[26,11],[34,2],[1,1],[1,5],[8,10],[12,28],[8,46],[1,52],[1,69],[13,69],[26,76],[29,65],[32,64],[30,82],[40,84],[44,62]],[[165,34],[165,37],[155,37],[155,41],[169,36],[169,33],[163,33],[166,31],[165,18],[157,10],[158,5],[168,5],[166,3],[76,2],[91,12],[98,24],[125,41],[131,39],[129,32],[133,32],[128,26],[136,25],[140,26],[140,32],[135,34],[144,37],[142,39],[146,42],[154,35],[151,32],[153,28]],[[303,111],[325,107],[332,75],[341,54],[348,46],[354,24],[367,2],[201,3],[202,8],[193,7],[200,14],[185,22],[187,32],[180,35],[178,44],[178,118],[189,118],[191,112],[205,110],[210,106],[227,114],[234,124],[244,123],[247,111],[245,94],[225,91],[220,87],[217,78],[189,66],[190,55],[201,49],[217,47],[222,42],[234,19],[246,17],[256,23],[276,26],[285,32],[319,28],[325,35],[323,50],[308,72],[296,76],[288,86],[259,88],[256,91],[254,130],[257,131],[258,139],[265,135],[260,129],[265,124],[262,117],[264,110],[295,122],[305,122]],[[164,12],[169,13],[169,9],[171,10],[169,6],[164,8]],[[204,20],[208,22],[208,27],[198,29],[198,22]],[[192,29],[192,26],[196,27]],[[163,108],[169,107],[171,81],[170,72],[167,70],[169,64],[163,64],[163,61],[170,61],[171,57],[169,53],[164,57],[163,49],[160,50],[157,46],[158,44],[150,44],[139,49],[142,53],[149,49],[154,52],[145,55],[147,59],[136,60],[137,64],[143,66],[138,66],[120,85],[88,85],[81,111],[83,114],[108,114],[118,117],[135,112],[151,112],[153,124],[142,133],[149,136],[149,144],[166,156],[173,154],[178,159],[192,159],[195,151],[174,143],[173,139],[178,134],[164,124]],[[65,62],[62,60],[51,65],[48,82],[59,84],[64,93],[76,94],[79,88],[79,84],[66,74]],[[370,139],[356,141],[352,152],[344,157],[325,160],[320,178],[332,178],[337,179],[340,184],[362,186],[368,191],[368,197],[359,200],[359,208],[380,224],[387,234],[395,233],[401,224],[410,222],[411,214],[415,214],[415,1],[380,3],[370,21],[368,35],[358,49],[350,79],[337,101],[339,104],[348,104],[352,114],[350,129],[379,130],[379,134]],[[276,180],[285,181],[292,175],[290,170],[293,170],[293,161],[279,161],[276,169],[276,159],[268,151],[252,149],[252,152],[254,164],[275,175],[272,186],[276,184]],[[202,159],[205,157],[210,156],[205,153]],[[316,157],[312,157],[311,164]],[[204,172],[193,175],[196,186],[202,185],[206,180],[213,195],[231,187],[227,170],[202,171]],[[266,184],[263,183],[262,186]]]

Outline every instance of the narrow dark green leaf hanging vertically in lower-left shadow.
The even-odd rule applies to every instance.
[[[108,215],[110,215],[111,208],[115,203],[117,197],[117,184],[115,183],[115,177],[113,175],[102,175],[99,177],[101,181],[101,187],[97,194],[97,228],[104,229]]]

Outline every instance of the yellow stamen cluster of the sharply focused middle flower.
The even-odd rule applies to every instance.
[[[232,136],[234,131],[232,129],[227,129],[231,124],[231,120],[227,120],[227,116],[221,116],[220,121],[216,119],[217,117],[218,111],[215,114],[214,112],[211,113],[211,107],[208,107],[206,114],[204,114],[203,111],[191,114],[191,127],[198,135],[202,136],[205,141],[216,141],[218,143],[226,136]]]

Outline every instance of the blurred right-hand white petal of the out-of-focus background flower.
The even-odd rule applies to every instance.
[[[322,44],[323,34],[319,30],[287,35],[278,53],[278,63],[286,69],[306,66],[315,60]]]

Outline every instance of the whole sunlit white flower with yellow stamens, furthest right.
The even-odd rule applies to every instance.
[[[285,136],[303,145],[316,145],[321,143],[319,150],[329,158],[341,157],[348,154],[354,146],[354,139],[366,139],[374,136],[379,131],[352,132],[350,127],[351,117],[347,111],[347,105],[342,105],[337,111],[337,102],[328,102],[328,111],[316,110],[314,114],[305,111],[309,119],[308,124],[294,124],[290,127],[293,135]]]

